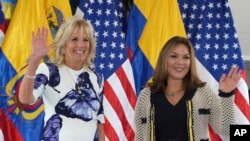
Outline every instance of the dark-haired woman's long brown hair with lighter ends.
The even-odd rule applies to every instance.
[[[178,44],[184,44],[190,53],[190,68],[187,75],[183,79],[184,90],[192,90],[205,85],[205,83],[200,80],[197,74],[195,53],[191,42],[187,38],[174,36],[169,39],[161,49],[152,81],[147,83],[147,86],[150,87],[152,94],[164,91],[164,89],[167,87],[168,66],[166,65],[166,60],[169,59],[170,51]]]

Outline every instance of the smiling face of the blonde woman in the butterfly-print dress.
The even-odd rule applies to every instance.
[[[81,69],[89,57],[90,38],[83,28],[76,28],[65,46],[64,61],[72,69]]]

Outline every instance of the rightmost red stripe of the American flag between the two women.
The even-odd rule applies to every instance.
[[[120,67],[119,69],[116,70],[116,75],[120,79],[120,82],[122,84],[122,87],[127,95],[127,98],[129,100],[130,105],[135,109],[135,104],[136,104],[136,96],[133,91],[133,87],[131,86],[126,73],[124,72],[123,68]]]

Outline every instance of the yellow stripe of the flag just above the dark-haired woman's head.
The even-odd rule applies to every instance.
[[[135,4],[147,20],[138,44],[155,67],[167,40],[176,35],[186,37],[178,3],[176,0],[137,0]]]

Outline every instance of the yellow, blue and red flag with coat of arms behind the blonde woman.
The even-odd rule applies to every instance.
[[[0,131],[5,141],[39,141],[42,101],[22,105],[18,90],[30,56],[31,33],[50,29],[48,44],[60,23],[71,16],[68,0],[18,0],[0,49]]]

